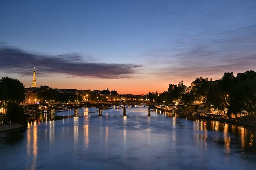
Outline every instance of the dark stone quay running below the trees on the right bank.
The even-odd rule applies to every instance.
[[[156,109],[158,109],[158,110],[163,110],[163,111],[167,111],[167,112],[172,112],[172,110],[169,110],[169,109],[163,109],[163,108],[158,108],[158,107],[156,107]],[[176,113],[177,113],[177,114],[192,115],[193,112],[188,112],[188,111],[176,111]],[[252,122],[252,121],[231,121],[231,120],[218,119],[218,118],[208,117],[208,116],[200,116],[199,114],[193,114],[192,116],[198,117],[198,118],[202,118],[202,119],[209,119],[209,120],[213,120],[213,121],[226,122],[226,123],[230,123],[230,124],[243,125],[243,126],[250,126],[250,127],[256,128],[256,122]]]

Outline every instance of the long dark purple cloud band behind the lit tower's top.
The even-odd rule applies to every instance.
[[[138,64],[113,64],[93,62],[78,54],[50,56],[27,52],[19,48],[0,48],[0,71],[23,76],[31,75],[34,66],[40,76],[54,74],[66,77],[93,77],[119,79],[134,77]]]

